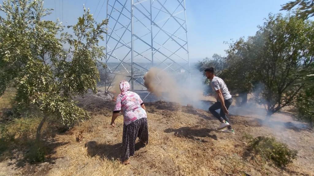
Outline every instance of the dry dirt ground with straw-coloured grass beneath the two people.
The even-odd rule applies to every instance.
[[[5,160],[0,176],[314,175],[313,132],[295,125],[289,113],[275,116],[269,124],[258,117],[230,115],[236,131],[232,135],[215,130],[219,121],[207,111],[164,101],[145,104],[149,144],[136,145],[131,164],[124,166],[119,162],[123,118],[117,118],[115,128],[109,125],[113,105],[91,95],[80,99],[91,119],[53,137],[46,162],[19,165],[17,160]],[[246,152],[246,133],[276,137],[298,150],[297,159],[285,169],[258,162]]]

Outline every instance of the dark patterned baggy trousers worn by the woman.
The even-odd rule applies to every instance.
[[[140,142],[148,143],[147,118],[140,118],[127,126],[123,125],[122,156],[120,158],[122,162],[134,155],[134,145],[137,137]]]

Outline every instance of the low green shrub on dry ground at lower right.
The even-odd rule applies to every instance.
[[[297,156],[296,150],[288,148],[286,144],[271,136],[252,138],[249,143],[249,150],[264,159],[272,160],[279,167],[286,167]]]

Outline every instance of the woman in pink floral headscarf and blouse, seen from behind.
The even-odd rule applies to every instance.
[[[116,127],[115,120],[121,111],[123,114],[122,156],[121,162],[129,164],[129,156],[134,155],[136,137],[140,142],[148,143],[148,126],[145,105],[139,95],[129,91],[127,81],[120,82],[120,91],[112,113],[111,125]]]

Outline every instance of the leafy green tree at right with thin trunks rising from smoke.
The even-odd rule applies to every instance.
[[[259,102],[266,104],[268,115],[300,101],[298,93],[304,84],[298,73],[313,57],[311,42],[313,23],[288,14],[269,15],[263,26],[248,42],[252,52],[253,73],[263,85]]]

